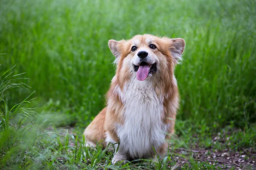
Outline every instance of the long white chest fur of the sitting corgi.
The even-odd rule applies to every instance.
[[[144,158],[154,154],[164,142],[167,126],[162,122],[163,99],[157,96],[151,82],[128,82],[119,95],[124,104],[124,125],[116,125],[119,149],[131,158]]]

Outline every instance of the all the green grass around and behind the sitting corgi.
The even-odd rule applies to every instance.
[[[1,0],[0,75],[16,66],[0,79],[0,167],[118,168],[110,164],[112,153],[69,148],[66,137],[46,128],[76,125],[78,139],[67,138],[81,142],[114,76],[108,40],[145,33],[186,41],[175,70],[181,95],[175,147],[255,148],[255,16],[254,0]],[[183,167],[191,165],[217,168],[193,161]]]

